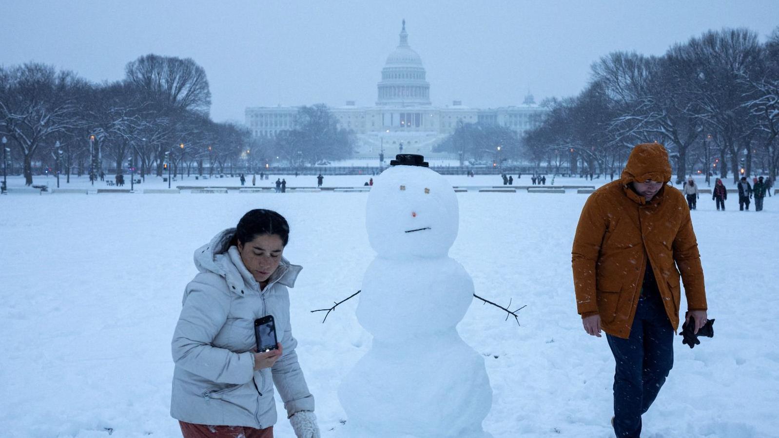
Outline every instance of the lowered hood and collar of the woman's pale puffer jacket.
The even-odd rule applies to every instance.
[[[217,233],[208,244],[199,247],[194,254],[195,267],[199,272],[213,272],[224,277],[227,284],[235,286],[231,288],[233,290],[237,291],[244,288],[244,285],[249,285],[259,291],[259,284],[241,262],[237,248],[231,246],[234,235],[235,228],[228,228]],[[279,267],[270,276],[268,286],[279,282],[284,286],[294,287],[302,269],[302,266],[292,265],[282,257]],[[265,289],[268,289],[268,286]]]

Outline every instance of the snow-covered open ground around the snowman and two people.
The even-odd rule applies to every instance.
[[[449,178],[455,185],[499,184],[494,176]],[[363,179],[326,177],[325,184]],[[9,185],[23,181],[9,178]],[[355,300],[326,324],[323,314],[309,311],[360,287],[374,257],[365,233],[367,196],[0,197],[0,436],[103,437],[108,429],[112,437],[180,436],[168,415],[170,341],[184,286],[196,272],[192,251],[258,207],[291,223],[285,255],[305,267],[291,289],[298,353],[323,436],[335,436],[346,419],[337,387],[371,339],[354,316]],[[484,426],[495,438],[613,436],[612,355],[605,338],[584,333],[573,296],[570,248],[586,197],[458,194],[460,233],[450,255],[471,274],[478,295],[528,306],[517,327],[474,301],[459,325],[485,356],[494,397]],[[716,336],[692,350],[677,337],[674,369],[644,416],[644,436],[779,436],[779,198],[766,198],[763,212],[738,212],[736,198],[717,212],[704,194],[693,212]],[[292,436],[286,420],[276,433]]]

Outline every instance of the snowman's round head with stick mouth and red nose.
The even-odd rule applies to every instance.
[[[382,257],[446,257],[459,220],[454,189],[427,167],[390,167],[368,194],[368,240]]]

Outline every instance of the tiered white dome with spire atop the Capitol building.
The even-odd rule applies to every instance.
[[[430,84],[425,80],[422,58],[408,45],[406,20],[400,30],[400,44],[390,53],[382,68],[376,105],[414,107],[430,105]]]

